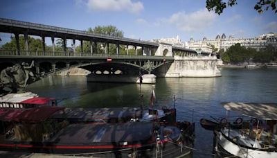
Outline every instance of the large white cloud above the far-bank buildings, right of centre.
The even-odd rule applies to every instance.
[[[161,19],[159,25],[170,24],[186,33],[199,32],[215,24],[217,15],[202,9],[196,12],[177,12],[168,19]]]

